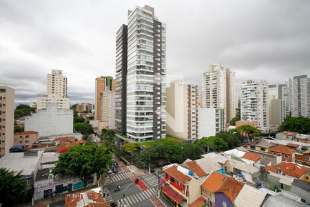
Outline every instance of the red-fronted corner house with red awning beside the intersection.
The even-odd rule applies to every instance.
[[[191,170],[178,164],[170,164],[163,167],[163,172],[161,191],[173,204],[189,205],[200,197],[202,180],[194,178]]]

